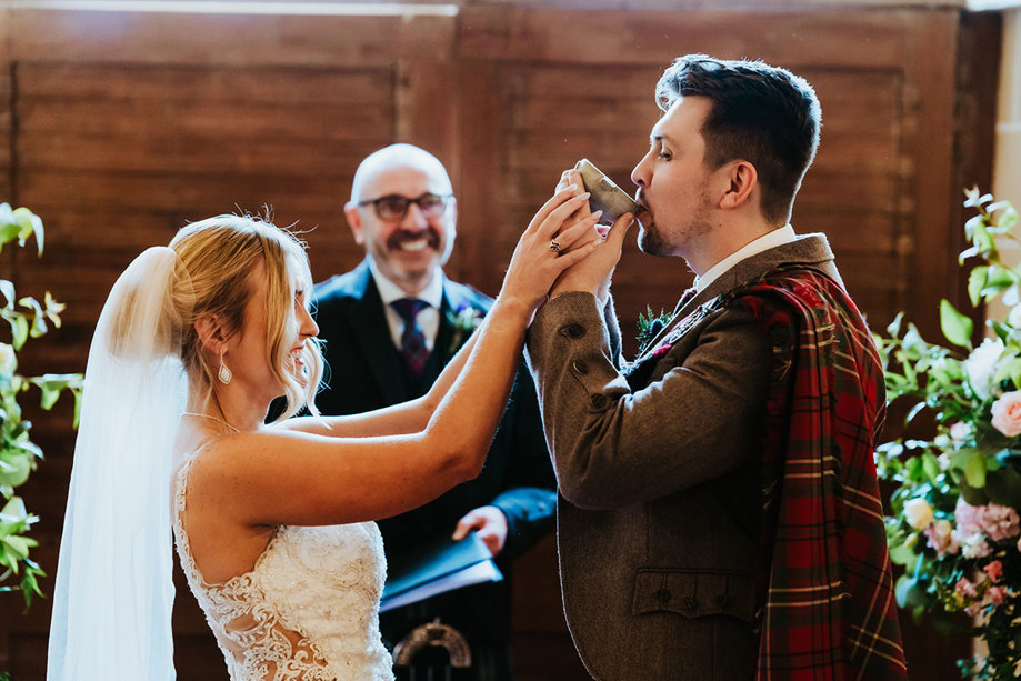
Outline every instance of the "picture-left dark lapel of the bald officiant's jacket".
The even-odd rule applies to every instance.
[[[354,342],[361,349],[380,393],[390,404],[408,399],[400,372],[400,357],[390,337],[383,301],[372,272],[364,262],[351,289],[352,304],[347,308]]]

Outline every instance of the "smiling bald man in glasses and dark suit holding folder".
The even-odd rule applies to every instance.
[[[457,200],[443,164],[411,144],[367,157],[354,173],[344,216],[364,260],[316,287],[326,341],[323,414],[379,409],[424,394],[492,300],[443,272],[457,232]],[[535,389],[518,372],[486,468],[414,511],[379,522],[388,562],[441,535],[477,532],[504,574],[380,615],[392,649],[440,618],[467,639],[470,678],[512,678],[511,562],[552,527],[554,479]]]

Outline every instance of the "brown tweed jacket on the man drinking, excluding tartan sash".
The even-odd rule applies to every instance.
[[[612,303],[542,306],[528,359],[557,472],[564,612],[603,681],[751,679],[770,340],[715,297],[781,264],[840,281],[822,234],[749,258],[679,306],[624,374]],[[642,361],[644,359],[644,361]]]

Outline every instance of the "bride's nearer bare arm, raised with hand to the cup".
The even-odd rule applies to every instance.
[[[529,319],[560,272],[599,242],[594,219],[570,219],[587,197],[569,196],[557,194],[525,230],[501,296],[463,353],[463,370],[423,430],[370,438],[280,429],[228,435],[196,460],[189,502],[213,505],[224,520],[246,525],[357,522],[402,513],[477,475]],[[573,248],[557,257],[549,249],[553,237]]]

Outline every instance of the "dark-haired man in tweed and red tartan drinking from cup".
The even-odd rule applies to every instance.
[[[783,69],[703,54],[655,93],[639,247],[683,258],[694,287],[621,362],[607,248],[528,337],[574,644],[604,681],[905,679],[879,358],[825,237],[789,223],[819,102]]]

